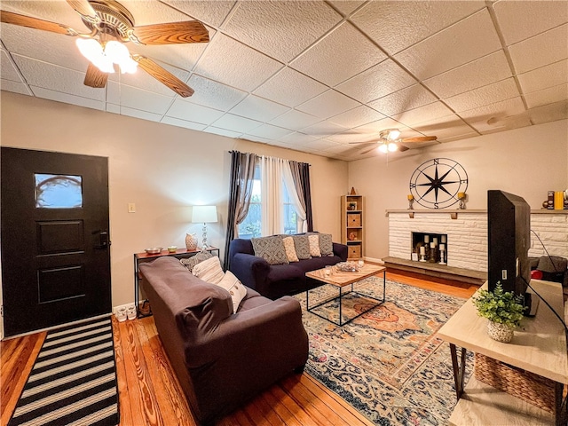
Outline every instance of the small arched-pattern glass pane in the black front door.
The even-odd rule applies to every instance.
[[[83,207],[80,176],[36,173],[36,208],[76,209]]]

